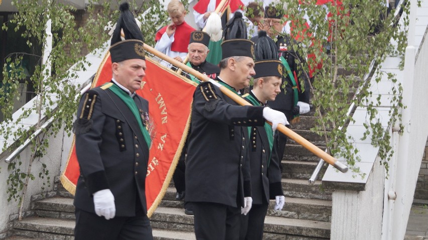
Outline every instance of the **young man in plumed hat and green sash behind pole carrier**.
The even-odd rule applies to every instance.
[[[268,100],[275,100],[281,92],[282,63],[276,59],[256,61],[254,70],[253,89],[242,97],[254,106],[266,106]],[[272,128],[265,123],[249,127],[248,132],[253,204],[247,215],[241,215],[240,239],[261,240],[269,199],[275,199],[274,209],[281,210],[285,197]]]

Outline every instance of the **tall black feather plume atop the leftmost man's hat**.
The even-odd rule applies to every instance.
[[[121,11],[121,15],[119,16],[116,24],[116,29],[113,32],[112,42],[110,45],[113,46],[115,43],[122,41],[121,29],[124,31],[125,40],[136,39],[144,42],[141,29],[138,27],[137,22],[135,22],[134,15],[129,11],[129,4],[121,4],[119,10]]]

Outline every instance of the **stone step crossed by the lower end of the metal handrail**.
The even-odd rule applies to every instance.
[[[284,178],[297,178],[308,180],[316,167],[316,162],[305,161],[281,161],[282,164],[282,177]],[[325,163],[327,164],[327,163]],[[322,179],[323,174],[327,170],[327,165],[322,168],[318,175],[318,180]]]

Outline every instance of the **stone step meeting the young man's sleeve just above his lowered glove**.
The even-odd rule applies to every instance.
[[[303,179],[282,179],[282,189],[285,197],[302,197],[310,199],[332,200],[332,190],[325,189],[321,181],[310,184]]]

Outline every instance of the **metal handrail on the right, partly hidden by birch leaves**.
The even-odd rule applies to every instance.
[[[400,0],[400,2],[398,3],[397,8],[395,9],[394,18],[396,18],[398,15],[400,15],[401,5],[404,3],[404,1],[405,0]],[[394,22],[391,23],[390,25],[391,25],[390,27],[394,26]],[[374,57],[374,59],[370,63],[369,72],[366,73],[366,74],[364,74],[364,76],[363,76],[364,83],[357,89],[357,91],[355,92],[354,96],[352,97],[352,100],[355,100],[355,98],[361,92],[361,89],[363,87],[365,87],[368,84],[368,80],[371,79],[370,76],[374,73],[374,70],[375,70],[374,69],[375,59],[376,59],[376,56]],[[357,106],[356,106],[355,102],[353,101],[352,104],[351,104],[351,106],[348,109],[348,112],[346,113],[346,116],[350,116],[351,113],[354,112],[356,108],[357,108]],[[340,126],[339,130],[342,130],[344,126],[345,125]],[[327,148],[326,148],[326,152],[327,152]],[[319,161],[318,161],[318,163],[316,164],[315,169],[312,172],[312,175],[308,179],[308,182],[310,184],[314,184],[315,183],[315,180],[316,180],[316,178],[318,178],[319,172],[323,168],[324,163],[325,163],[325,161],[322,158],[320,158]]]

